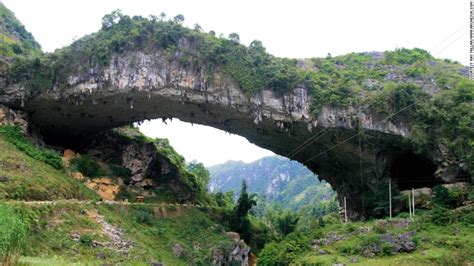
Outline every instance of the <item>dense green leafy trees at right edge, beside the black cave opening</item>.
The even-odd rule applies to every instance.
[[[419,105],[411,139],[420,150],[445,149],[450,159],[466,164],[474,177],[474,83],[460,78],[431,102]]]

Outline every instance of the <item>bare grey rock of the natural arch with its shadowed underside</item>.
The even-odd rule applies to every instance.
[[[409,124],[357,108],[323,107],[313,114],[317,99],[304,87],[248,94],[219,67],[212,82],[205,69],[169,60],[160,49],[135,49],[69,75],[63,88],[31,94],[21,82],[4,85],[0,103],[27,111],[47,142],[157,118],[222,129],[306,165],[332,185],[339,201],[347,197],[353,218],[363,216],[362,194],[382,180],[400,180],[402,189],[443,181],[433,158],[413,155],[405,141]]]

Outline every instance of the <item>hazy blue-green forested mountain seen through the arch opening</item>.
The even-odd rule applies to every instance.
[[[228,161],[208,167],[211,191],[234,191],[238,196],[242,180],[249,191],[283,208],[299,210],[309,204],[334,198],[330,185],[320,181],[302,164],[280,156],[271,156],[251,163]]]

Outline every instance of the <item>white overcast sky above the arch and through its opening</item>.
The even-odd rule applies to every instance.
[[[1,0],[0,0],[1,1]],[[469,64],[468,0],[3,0],[33,33],[44,51],[69,45],[97,31],[104,14],[183,14],[185,25],[228,35],[242,43],[261,40],[283,57],[322,57],[349,52],[419,47],[434,56]],[[160,121],[141,129],[167,137],[178,152],[205,165],[226,160],[252,161],[269,151],[245,139],[203,126]]]

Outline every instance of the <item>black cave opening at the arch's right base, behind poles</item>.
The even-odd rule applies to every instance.
[[[392,178],[397,180],[400,190],[433,187],[436,165],[429,159],[413,153],[398,156],[392,164]]]

